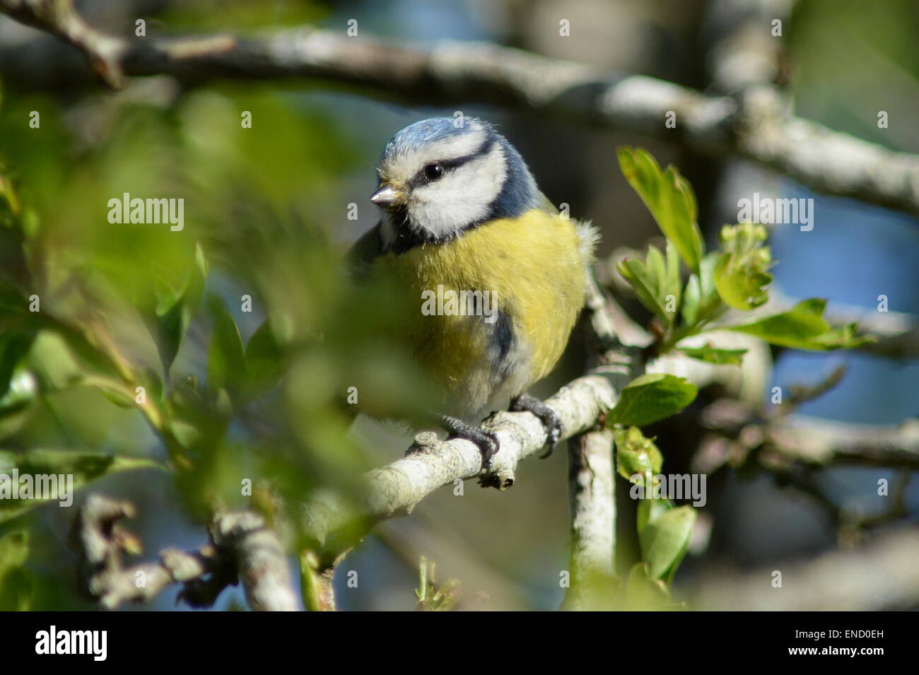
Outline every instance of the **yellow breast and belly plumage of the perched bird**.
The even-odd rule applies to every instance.
[[[562,354],[584,302],[584,265],[573,221],[537,209],[376,263],[417,299],[409,334],[431,372],[460,384],[484,369],[493,384],[516,376],[524,386]]]

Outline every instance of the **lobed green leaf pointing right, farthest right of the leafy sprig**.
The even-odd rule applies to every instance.
[[[812,351],[852,348],[876,339],[872,335],[857,335],[858,326],[855,323],[831,327],[823,319],[825,307],[826,300],[810,298],[801,300],[781,314],[726,328],[755,335],[780,347]]]

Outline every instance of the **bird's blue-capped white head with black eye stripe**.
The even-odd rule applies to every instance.
[[[495,218],[539,206],[539,190],[520,153],[476,118],[431,118],[399,131],[377,165],[370,201],[385,211],[385,248],[448,242]]]

